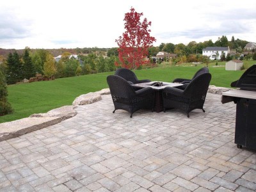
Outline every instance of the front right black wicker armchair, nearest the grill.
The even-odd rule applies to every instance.
[[[204,73],[192,79],[185,90],[179,88],[166,87],[163,90],[163,110],[168,108],[178,108],[189,112],[194,109],[202,109],[204,112],[204,102],[211,81],[211,74]]]

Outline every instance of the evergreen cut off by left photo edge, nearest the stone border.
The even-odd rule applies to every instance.
[[[13,109],[7,100],[7,86],[3,73],[0,70],[0,116],[12,113]]]

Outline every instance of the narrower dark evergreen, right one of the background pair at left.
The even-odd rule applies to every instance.
[[[24,56],[23,56],[23,70],[24,74],[23,77],[29,79],[30,77],[35,77],[35,67],[32,63],[31,57],[29,56],[28,49],[25,49]]]

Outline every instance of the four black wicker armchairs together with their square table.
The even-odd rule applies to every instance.
[[[186,112],[204,110],[204,102],[211,81],[207,67],[200,68],[192,79],[174,79],[172,83],[139,80],[132,70],[118,68],[115,75],[107,77],[109,90],[115,109],[123,109],[132,114],[139,109],[152,112],[177,108]]]

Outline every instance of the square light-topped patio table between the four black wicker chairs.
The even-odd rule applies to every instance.
[[[168,83],[168,82],[161,82],[163,85],[162,86],[152,86],[151,84],[157,83],[160,81],[151,81],[147,83],[137,83],[137,84],[131,84],[134,88],[145,88],[145,87],[151,87],[152,89],[155,90],[155,103],[154,103],[154,110],[159,113],[163,111],[163,97],[162,97],[162,92],[163,89],[170,86],[170,87],[175,87],[175,86],[182,86],[181,83]]]

